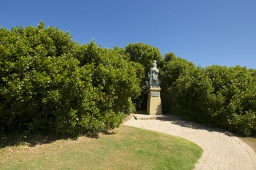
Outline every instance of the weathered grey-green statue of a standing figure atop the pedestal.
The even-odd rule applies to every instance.
[[[150,69],[150,72],[148,72],[148,81],[146,81],[146,84],[148,87],[159,87],[160,81],[159,81],[159,70],[157,69],[157,61],[154,60],[152,64],[153,68]]]

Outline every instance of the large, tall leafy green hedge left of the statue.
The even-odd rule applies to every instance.
[[[143,67],[57,28],[0,30],[0,127],[97,134],[133,112]]]

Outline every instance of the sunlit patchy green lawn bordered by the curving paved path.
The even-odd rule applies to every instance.
[[[193,169],[203,150],[196,144],[122,125],[98,139],[80,136],[0,150],[0,169]]]

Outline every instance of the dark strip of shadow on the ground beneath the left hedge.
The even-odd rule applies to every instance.
[[[113,131],[102,131],[104,135],[116,134]],[[29,147],[34,147],[37,144],[50,144],[58,140],[72,139],[76,140],[79,136],[98,139],[99,134],[80,134],[80,135],[57,135],[57,134],[0,134],[0,149],[4,147],[14,147],[20,144],[27,144]]]

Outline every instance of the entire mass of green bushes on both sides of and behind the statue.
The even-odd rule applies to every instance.
[[[97,134],[146,109],[148,69],[160,70],[162,109],[241,134],[256,134],[256,70],[201,68],[132,43],[78,45],[58,28],[0,29],[0,132]]]

